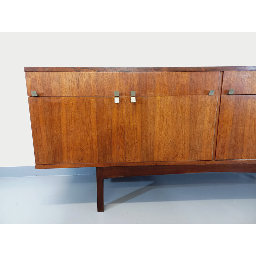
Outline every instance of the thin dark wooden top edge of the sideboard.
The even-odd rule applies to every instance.
[[[26,72],[193,72],[193,71],[256,71],[256,66],[231,67],[158,67],[158,68],[78,68],[24,67]]]

